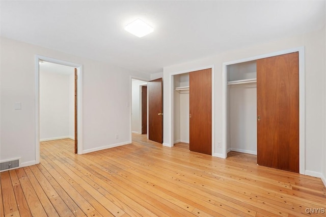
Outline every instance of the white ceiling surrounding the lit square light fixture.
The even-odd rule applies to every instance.
[[[325,25],[325,1],[1,1],[1,35],[143,73]],[[124,30],[136,18],[154,32]]]

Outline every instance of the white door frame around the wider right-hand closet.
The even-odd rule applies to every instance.
[[[222,157],[227,157],[227,66],[258,60],[267,57],[284,55],[286,53],[299,52],[299,173],[305,174],[305,47],[296,47],[287,50],[267,53],[255,57],[223,63],[222,71]]]

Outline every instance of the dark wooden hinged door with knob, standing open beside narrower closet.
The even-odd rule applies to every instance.
[[[151,80],[148,88],[148,138],[163,142],[163,95],[162,78]]]

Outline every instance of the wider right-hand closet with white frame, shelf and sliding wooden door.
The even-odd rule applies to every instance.
[[[298,47],[223,63],[222,157],[305,174],[304,60]]]

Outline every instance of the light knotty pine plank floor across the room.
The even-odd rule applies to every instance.
[[[42,142],[39,165],[0,173],[0,216],[325,216],[319,178],[133,141],[84,155],[69,139]]]

